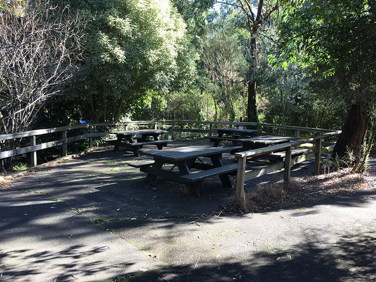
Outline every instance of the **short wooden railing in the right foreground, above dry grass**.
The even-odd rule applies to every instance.
[[[324,133],[322,135],[315,136],[312,138],[300,139],[300,140],[289,142],[289,143],[282,143],[282,144],[273,145],[269,147],[235,153],[235,159],[237,160],[237,164],[238,164],[237,174],[234,179],[234,183],[236,186],[236,193],[235,193],[236,198],[239,199],[240,202],[243,202],[245,204],[244,182],[247,180],[254,179],[262,175],[280,170],[280,169],[284,169],[283,181],[285,185],[288,185],[290,181],[291,166],[294,164],[302,163],[310,158],[315,158],[314,172],[319,173],[321,154],[331,151],[334,147],[334,145],[331,144],[329,146],[322,148],[322,140],[324,138],[337,136],[339,134],[341,134],[340,130],[332,131],[332,132]],[[315,149],[313,152],[302,155],[302,156],[298,156],[295,158],[291,157],[291,151],[293,147],[299,146],[304,143],[312,143],[312,142],[315,143]],[[263,168],[259,168],[256,170],[246,171],[247,159],[250,159],[259,155],[263,155],[263,154],[268,154],[273,151],[281,151],[281,150],[285,151],[284,162],[271,164],[271,165],[268,165],[268,166],[265,166]]]

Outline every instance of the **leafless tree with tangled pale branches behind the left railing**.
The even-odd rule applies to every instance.
[[[2,3],[1,134],[28,129],[46,100],[61,93],[80,54],[79,23],[80,18],[68,7],[31,0]],[[12,144],[0,146],[4,150]]]

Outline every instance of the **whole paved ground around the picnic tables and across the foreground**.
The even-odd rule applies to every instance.
[[[0,189],[0,281],[376,281],[375,187],[229,215],[221,204],[234,191],[218,180],[191,197],[146,185],[132,160],[95,152]]]

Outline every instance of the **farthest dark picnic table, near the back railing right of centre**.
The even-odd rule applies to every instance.
[[[214,142],[213,146],[218,147],[221,141],[232,141],[234,145],[238,144],[239,138],[251,137],[260,133],[257,129],[240,129],[240,128],[216,128],[217,136],[208,136],[209,141]]]

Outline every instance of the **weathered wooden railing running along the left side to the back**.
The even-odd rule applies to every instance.
[[[9,158],[25,153],[31,153],[31,166],[37,165],[37,151],[63,145],[63,156],[67,156],[68,154],[68,143],[83,140],[89,138],[90,146],[93,145],[93,138],[95,137],[103,137],[106,136],[107,133],[104,132],[93,132],[94,127],[114,127],[114,126],[124,126],[125,130],[128,129],[130,125],[152,125],[153,128],[157,127],[157,121],[129,121],[129,122],[117,122],[117,123],[87,123],[87,124],[78,124],[72,126],[62,126],[56,128],[48,128],[48,129],[38,129],[38,130],[30,130],[25,132],[16,132],[11,134],[3,134],[0,135],[0,142],[5,142],[8,140],[14,140],[19,138],[29,138],[29,146],[25,146],[22,148],[1,151],[0,152],[0,159]],[[75,129],[88,129],[87,133],[67,137],[67,132]],[[37,144],[37,137],[45,134],[61,132],[61,139],[55,141],[49,141]]]

